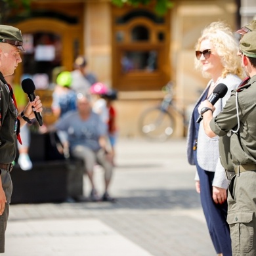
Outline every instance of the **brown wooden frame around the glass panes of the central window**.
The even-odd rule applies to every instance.
[[[114,21],[117,16],[114,16]],[[136,26],[144,26],[148,29],[148,41],[133,41],[132,31]],[[113,22],[113,87],[119,91],[153,91],[161,89],[169,81],[169,29],[169,15],[166,16],[163,24],[154,23],[152,20],[140,16],[129,20],[125,24]],[[116,40],[118,32],[123,33],[123,41]],[[164,40],[159,39],[159,33],[163,33]],[[123,73],[121,57],[125,51],[156,51],[158,53],[158,68],[152,72],[135,70]]]

